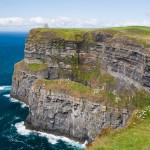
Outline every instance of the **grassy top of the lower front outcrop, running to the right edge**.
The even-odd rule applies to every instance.
[[[112,92],[103,89],[93,89],[91,87],[85,86],[82,83],[74,82],[67,79],[58,80],[46,80],[37,79],[34,83],[34,89],[46,89],[54,90],[59,93],[65,93],[67,95],[73,96],[75,98],[84,99],[87,101],[98,102],[105,104],[106,106],[113,106],[116,108],[128,107],[133,108],[143,108],[149,104],[149,93],[144,91],[137,91],[135,95],[125,94],[116,95]]]

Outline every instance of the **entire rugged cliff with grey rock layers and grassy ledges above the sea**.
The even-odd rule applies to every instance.
[[[31,30],[11,91],[30,107],[27,125],[80,141],[124,127],[139,107],[136,90],[150,91],[145,38],[116,29]]]

